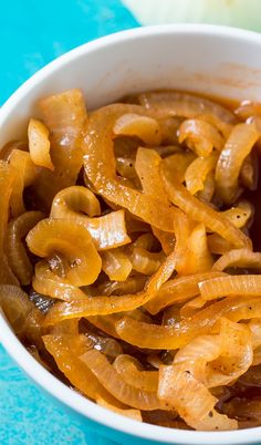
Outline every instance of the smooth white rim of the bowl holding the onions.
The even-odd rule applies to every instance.
[[[114,45],[115,43],[129,40],[144,39],[161,34],[189,35],[189,34],[212,35],[217,38],[236,39],[261,45],[261,34],[238,28],[212,24],[159,24],[145,28],[134,28],[127,31],[116,32],[91,42],[84,43],[54,61],[43,66],[25,81],[0,107],[0,128],[4,125],[6,117],[14,110],[17,104],[22,101],[29,91],[33,90],[39,83],[44,81],[49,74],[54,73],[67,63],[72,63],[83,54],[92,53],[101,48]],[[132,418],[113,413],[96,403],[85,399],[77,392],[71,390],[60,380],[54,377],[49,371],[40,365],[27,351],[22,343],[12,332],[9,323],[0,310],[0,341],[9,355],[17,364],[36,383],[44,392],[58,399],[62,404],[71,407],[84,417],[104,425],[111,430],[118,431],[129,436],[149,439],[159,443],[179,443],[180,445],[209,445],[231,444],[253,444],[261,439],[261,427],[247,428],[229,432],[198,432],[168,428],[147,423],[139,423]]]

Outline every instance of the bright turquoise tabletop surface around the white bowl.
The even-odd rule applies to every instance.
[[[119,0],[0,0],[0,104],[41,66],[97,37],[137,27]],[[0,444],[85,444],[0,345]]]

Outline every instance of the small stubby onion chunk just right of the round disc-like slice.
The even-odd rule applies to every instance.
[[[102,261],[102,270],[108,276],[109,280],[125,281],[133,269],[127,253],[119,248],[103,252]]]

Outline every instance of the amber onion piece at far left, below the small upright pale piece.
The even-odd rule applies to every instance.
[[[9,162],[15,169],[14,185],[10,199],[11,214],[15,218],[25,211],[23,190],[27,186],[34,183],[39,175],[39,169],[33,164],[30,154],[21,149],[13,149]]]

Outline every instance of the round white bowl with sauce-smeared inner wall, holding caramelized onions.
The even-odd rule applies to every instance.
[[[83,90],[88,108],[130,92],[180,89],[261,101],[261,35],[213,25],[160,25],[121,32],[82,45],[46,65],[0,108],[0,146],[24,134],[35,102],[71,87]],[[22,370],[83,428],[124,444],[260,444],[261,427],[236,432],[191,432],[138,423],[109,412],[70,390],[22,346],[0,314],[0,340]],[[97,443],[97,437],[90,435]],[[102,439],[101,439],[102,441]],[[88,444],[91,443],[88,442]]]

